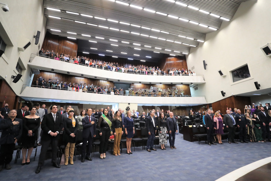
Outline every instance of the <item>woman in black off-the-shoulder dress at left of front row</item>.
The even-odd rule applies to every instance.
[[[31,107],[30,109],[30,115],[25,116],[23,119],[23,134],[22,134],[22,165],[29,164],[30,163],[30,156],[33,151],[33,147],[35,144],[35,141],[38,138],[38,128],[41,124],[41,118],[36,113],[36,107]],[[25,161],[26,151],[28,149],[27,153],[27,159]]]

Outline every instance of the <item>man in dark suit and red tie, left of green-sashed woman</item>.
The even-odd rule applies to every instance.
[[[92,139],[96,137],[95,130],[96,130],[96,119],[92,116],[92,109],[87,109],[87,116],[82,119],[83,124],[83,144],[82,144],[82,157],[81,162],[85,161],[85,158],[89,161],[92,161],[90,158],[91,148],[92,148]],[[86,145],[88,142],[88,150],[86,154]]]

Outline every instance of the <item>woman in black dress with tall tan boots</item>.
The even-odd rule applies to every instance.
[[[68,165],[69,156],[70,163],[73,165],[73,153],[75,147],[75,136],[78,131],[78,121],[76,118],[73,118],[74,110],[71,108],[68,111],[68,118],[63,120],[64,131],[63,131],[63,140],[65,144],[65,165]]]

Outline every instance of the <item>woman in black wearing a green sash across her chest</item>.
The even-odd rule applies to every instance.
[[[100,134],[100,158],[106,158],[107,145],[110,135],[112,135],[112,118],[108,115],[108,109],[105,108],[103,114],[98,120],[98,131]]]

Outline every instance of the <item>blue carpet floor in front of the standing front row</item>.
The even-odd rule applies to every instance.
[[[32,152],[30,164],[21,166],[22,157],[14,164],[12,169],[3,169],[0,172],[0,180],[191,180],[213,181],[237,168],[257,160],[271,156],[271,143],[239,143],[224,145],[207,145],[204,141],[198,144],[183,140],[182,134],[176,135],[175,146],[171,150],[169,143],[167,150],[161,150],[157,145],[157,151],[150,153],[136,147],[132,155],[126,154],[123,149],[121,156],[111,155],[107,152],[105,159],[99,158],[95,152],[93,161],[84,163],[78,160],[74,165],[61,165],[61,168],[51,166],[51,160],[46,160],[39,174],[35,174],[41,147],[38,147],[37,157]],[[15,157],[15,152],[14,152]]]

